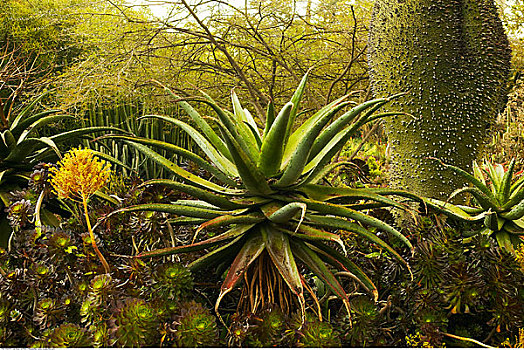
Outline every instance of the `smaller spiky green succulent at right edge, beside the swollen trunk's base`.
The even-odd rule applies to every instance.
[[[473,231],[472,235],[494,237],[501,248],[514,253],[524,242],[524,177],[514,181],[515,159],[507,170],[502,164],[484,161],[481,168],[473,162],[473,174],[453,165],[442,165],[471,183],[471,186],[454,191],[448,201],[462,193],[470,193],[472,204],[454,205],[436,199],[428,199],[428,204],[455,219],[482,224],[482,229]]]

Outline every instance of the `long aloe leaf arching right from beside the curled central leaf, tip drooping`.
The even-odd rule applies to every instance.
[[[316,210],[319,213],[342,216],[345,218],[353,219],[355,221],[361,222],[366,225],[376,227],[380,230],[389,232],[393,236],[397,237],[400,241],[402,241],[402,243],[404,243],[407,247],[413,250],[413,246],[402,233],[400,233],[395,228],[389,226],[388,224],[386,224],[383,221],[380,221],[377,218],[374,218],[372,216],[360,213],[358,211],[355,211],[349,208],[345,208],[337,204],[323,203],[323,202],[314,201],[310,199],[303,199],[302,201],[307,204],[309,209]]]

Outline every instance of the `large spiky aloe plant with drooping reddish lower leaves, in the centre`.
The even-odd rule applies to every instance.
[[[363,209],[380,206],[404,209],[403,204],[386,195],[409,194],[387,189],[334,188],[319,184],[329,171],[344,165],[330,164],[333,156],[360,126],[383,117],[384,114],[375,112],[391,98],[379,98],[357,105],[333,121],[337,112],[351,104],[348,96],[343,96],[314,113],[292,131],[306,81],[307,74],[291,100],[278,114],[273,104],[269,104],[263,130],[249,111],[242,107],[234,92],[233,112],[221,109],[204,94],[204,98],[199,101],[216,114],[211,120],[219,133],[208,123],[209,118],[203,118],[188,102],[165,88],[200,131],[167,116],[147,117],[165,120],[185,130],[208,160],[162,141],[112,136],[133,145],[171,171],[175,178],[153,179],[144,185],[161,184],[198,198],[170,204],[136,205],[119,209],[113,214],[129,211],[174,213],[179,216],[174,220],[175,223],[200,224],[195,237],[204,229],[227,227],[225,232],[209,239],[137,255],[139,258],[149,258],[215,248],[188,267],[192,271],[216,265],[229,269],[215,304],[217,313],[222,298],[244,276],[254,286],[250,295],[255,300],[253,308],[256,308],[256,300],[261,298],[264,291],[269,294],[274,292],[269,281],[271,270],[283,280],[282,285],[287,286],[287,289],[283,289],[296,296],[294,300],[298,300],[304,315],[304,290],[312,290],[305,284],[297,266],[298,261],[342,299],[348,312],[348,296],[332,268],[349,272],[376,300],[378,292],[371,279],[349,257],[330,245],[336,243],[345,251],[340,236],[332,233],[336,230],[361,235],[408,266],[398,252],[368,228],[387,232],[411,249],[410,242],[397,229],[365,214]],[[151,147],[188,158],[207,170],[213,178],[196,176],[162,157]],[[255,280],[259,283],[254,283]]]

